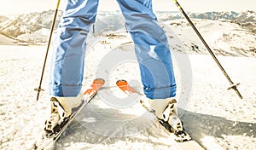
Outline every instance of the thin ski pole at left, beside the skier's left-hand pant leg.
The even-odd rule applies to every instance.
[[[57,18],[60,3],[61,3],[61,0],[58,0],[57,5],[56,5],[56,9],[55,9],[55,16],[54,16],[54,19],[53,19],[53,22],[52,22],[52,25],[51,25],[50,33],[49,33],[49,41],[48,41],[48,45],[47,45],[46,54],[45,54],[45,57],[44,57],[44,66],[43,66],[43,70],[42,70],[42,74],[41,74],[40,83],[39,83],[38,88],[34,89],[34,90],[38,91],[37,101],[38,101],[39,94],[40,94],[41,90],[44,91],[44,89],[41,89],[41,85],[42,85],[43,77],[44,77],[44,68],[45,68],[46,61],[47,61],[47,56],[48,56],[48,52],[49,52],[49,45],[50,45],[52,34],[53,34],[53,31],[54,31],[54,28],[55,28],[55,22],[56,22],[56,18]]]

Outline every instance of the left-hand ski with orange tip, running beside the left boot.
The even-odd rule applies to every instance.
[[[82,111],[82,109],[90,102],[90,100],[96,95],[99,89],[105,84],[102,78],[94,79],[93,83],[90,85],[89,89],[84,91],[84,96],[81,105],[72,110],[70,117],[66,118],[60,125],[57,126],[54,133],[48,133],[44,131],[42,137],[39,141],[34,144],[34,149],[49,149],[49,147],[54,147],[55,142],[61,137],[62,133],[67,129],[67,126],[71,124],[73,119]],[[40,142],[41,141],[41,142]],[[43,143],[42,143],[43,141]]]

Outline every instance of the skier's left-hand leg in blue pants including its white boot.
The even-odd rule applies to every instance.
[[[60,25],[60,35],[54,45],[50,71],[49,93],[50,117],[45,130],[55,132],[57,124],[64,123],[79,107],[83,95],[80,93],[84,74],[85,40],[90,25],[96,20],[98,0],[67,1],[67,8]]]

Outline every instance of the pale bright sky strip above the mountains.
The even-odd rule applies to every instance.
[[[64,8],[66,0],[61,0],[61,8]],[[116,0],[99,0],[99,10],[119,9]],[[26,14],[30,12],[42,12],[55,9],[57,0],[0,0],[0,15]],[[185,11],[256,11],[256,0],[178,0]],[[178,11],[172,0],[153,0],[154,10]]]

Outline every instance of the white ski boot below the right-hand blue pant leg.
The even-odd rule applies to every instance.
[[[148,99],[148,102],[160,124],[174,135],[175,141],[191,140],[189,134],[183,129],[183,122],[177,117],[177,101],[175,99]]]

